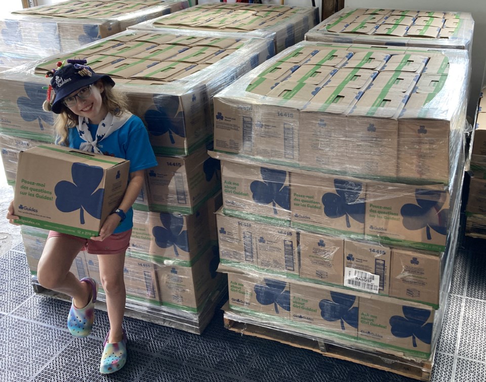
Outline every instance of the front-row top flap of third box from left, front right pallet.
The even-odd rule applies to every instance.
[[[304,112],[326,112],[333,114],[346,114],[362,95],[362,91],[351,87],[323,87],[310,103],[303,109]]]

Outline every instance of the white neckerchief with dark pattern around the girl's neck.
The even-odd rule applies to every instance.
[[[78,117],[78,124],[76,125],[79,137],[84,140],[84,142],[79,146],[79,150],[103,154],[100,149],[98,149],[98,142],[113,131],[118,130],[121,126],[127,122],[127,120],[132,116],[132,113],[125,112],[119,117],[108,112],[105,118],[98,125],[98,130],[96,131],[96,139],[93,140],[91,131],[88,129],[88,118]]]

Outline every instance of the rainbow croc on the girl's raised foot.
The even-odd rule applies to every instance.
[[[81,282],[91,285],[91,299],[84,308],[76,308],[71,302],[71,309],[67,317],[67,328],[74,337],[84,338],[90,335],[95,320],[95,302],[98,293],[98,284],[92,278],[82,278]]]

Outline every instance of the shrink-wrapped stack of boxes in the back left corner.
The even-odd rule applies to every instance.
[[[188,7],[187,0],[68,0],[27,8],[0,20],[0,47],[3,53],[28,63],[32,60],[26,54],[40,58],[69,52],[133,24]]]

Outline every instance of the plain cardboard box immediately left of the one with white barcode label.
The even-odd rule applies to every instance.
[[[300,277],[343,284],[342,238],[299,231]]]

